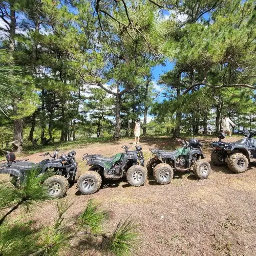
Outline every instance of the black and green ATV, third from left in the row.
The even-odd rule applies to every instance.
[[[168,184],[174,177],[174,170],[185,172],[193,167],[193,173],[199,179],[206,179],[210,174],[210,164],[205,161],[201,142],[197,139],[183,141],[183,147],[173,152],[150,148],[154,158],[147,163],[148,175],[153,175],[160,185]],[[161,158],[161,160],[160,160]]]

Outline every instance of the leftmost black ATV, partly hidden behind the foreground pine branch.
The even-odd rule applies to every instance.
[[[14,177],[14,185],[18,185],[20,180],[31,169],[38,169],[40,173],[45,173],[48,169],[53,169],[55,175],[46,179],[44,184],[48,186],[51,197],[61,198],[66,194],[69,184],[76,183],[81,173],[78,170],[75,160],[75,151],[70,152],[68,156],[62,154],[60,157],[58,157],[58,152],[59,150],[56,150],[53,156],[48,152],[39,155],[50,156],[52,158],[44,159],[39,163],[28,162],[28,160],[15,161],[15,154],[10,152],[6,155],[7,163],[0,164],[0,174],[10,174],[10,176]]]

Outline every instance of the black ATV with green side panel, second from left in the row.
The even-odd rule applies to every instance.
[[[91,167],[77,181],[77,188],[81,194],[89,195],[98,191],[104,177],[119,180],[126,176],[127,182],[136,187],[145,183],[146,169],[143,167],[142,147],[136,146],[135,151],[128,151],[129,146],[122,148],[125,153],[118,153],[110,158],[101,155],[83,155],[82,160],[87,160],[87,164]]]

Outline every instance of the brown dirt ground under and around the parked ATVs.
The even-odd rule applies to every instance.
[[[210,142],[218,139],[199,140],[204,143],[206,160],[210,161]],[[84,153],[111,156],[123,152],[121,146],[131,142],[123,139],[71,149],[76,151],[84,172],[88,168],[81,162]],[[141,138],[140,144],[147,162],[151,158],[150,147],[173,150],[182,143],[164,137],[146,137]],[[38,155],[30,155],[29,159],[35,162],[44,159]],[[256,255],[256,164],[252,163],[243,174],[231,173],[225,166],[211,164],[211,167],[206,180],[198,180],[191,173],[176,173],[170,184],[162,186],[154,180],[148,180],[143,187],[132,187],[124,181],[106,182],[90,196],[79,195],[74,185],[66,196],[74,202],[67,215],[77,216],[89,199],[95,199],[111,211],[105,225],[108,231],[120,220],[134,218],[140,224],[142,236],[137,244],[138,255]],[[32,216],[36,222],[48,224],[54,219],[54,212],[53,203],[49,202],[38,207]],[[95,247],[93,250],[97,251]],[[76,255],[85,255],[81,247],[79,250]]]

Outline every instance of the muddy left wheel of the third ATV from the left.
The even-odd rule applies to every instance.
[[[153,176],[158,184],[169,184],[174,178],[174,170],[167,163],[160,163],[154,168]]]

